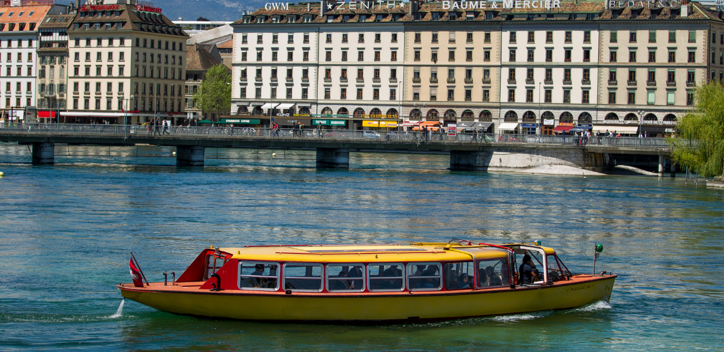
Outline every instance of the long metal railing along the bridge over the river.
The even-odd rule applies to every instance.
[[[569,146],[641,146],[666,148],[663,138],[589,137],[578,135],[510,135],[498,133],[422,133],[417,131],[292,130],[253,127],[151,127],[141,125],[0,124],[0,133],[51,135],[173,135],[184,137],[301,138],[329,140],[408,141],[414,143],[537,143]]]

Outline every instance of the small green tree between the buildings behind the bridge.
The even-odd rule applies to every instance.
[[[231,73],[224,64],[217,64],[206,71],[198,91],[194,93],[195,105],[204,112],[219,114],[231,111]]]

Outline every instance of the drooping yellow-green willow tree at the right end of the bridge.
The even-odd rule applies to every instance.
[[[675,138],[668,138],[673,160],[692,170],[698,167],[702,177],[717,176],[724,163],[724,85],[699,85],[694,96],[694,110],[684,114]]]

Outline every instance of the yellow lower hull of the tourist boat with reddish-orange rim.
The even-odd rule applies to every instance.
[[[269,322],[413,322],[570,309],[608,301],[615,275],[574,278],[533,288],[445,293],[342,294],[256,293],[240,290],[169,290],[163,283],[133,288],[122,296],[160,311],[200,317]]]

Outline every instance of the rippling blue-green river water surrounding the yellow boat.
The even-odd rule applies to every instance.
[[[353,169],[329,171],[313,168],[311,151],[221,149],[203,169],[177,169],[173,150],[56,146],[70,156],[33,166],[27,146],[0,144],[0,351],[724,348],[723,190],[668,177],[449,172],[447,156],[429,154],[353,153]],[[610,303],[431,324],[236,322],[133,301],[113,317],[127,251],[158,281],[212,244],[447,238],[542,240],[578,272],[603,243],[597,269],[620,276]]]

